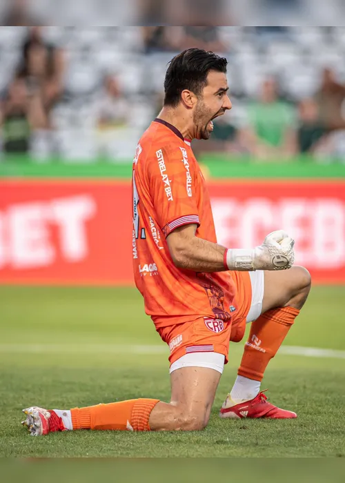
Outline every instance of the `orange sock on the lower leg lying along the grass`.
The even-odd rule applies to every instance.
[[[73,429],[150,431],[148,420],[159,400],[133,399],[70,410]]]

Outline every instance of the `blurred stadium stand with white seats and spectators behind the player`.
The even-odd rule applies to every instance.
[[[300,6],[299,0],[292,3]],[[284,8],[283,3],[275,8]],[[27,51],[30,65],[23,70],[23,46],[30,35],[26,27],[0,28],[5,149],[6,136],[29,136],[34,159],[130,160],[140,133],[160,110],[168,61],[186,47],[199,46],[213,48],[229,61],[233,111],[227,116],[228,129],[219,124],[213,149],[263,159],[271,154],[277,158],[279,152],[322,157],[344,151],[343,27],[44,27]],[[26,79],[27,90],[20,106],[8,103],[18,76]],[[107,87],[111,78],[116,88]],[[270,81],[275,92],[267,100],[264,89]],[[276,126],[282,106],[290,119],[287,150],[282,148],[285,141],[271,145],[262,137],[250,115],[253,108],[266,113],[267,130],[270,123]],[[37,115],[40,109],[43,117]],[[196,148],[210,150],[211,144],[197,143]]]

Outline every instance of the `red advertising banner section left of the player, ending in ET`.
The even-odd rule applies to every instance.
[[[1,181],[0,282],[132,284],[128,182]]]

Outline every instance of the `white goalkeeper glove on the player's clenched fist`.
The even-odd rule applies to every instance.
[[[262,245],[253,250],[226,250],[224,262],[228,270],[286,270],[293,266],[295,260],[294,244],[294,240],[283,230],[273,231]]]

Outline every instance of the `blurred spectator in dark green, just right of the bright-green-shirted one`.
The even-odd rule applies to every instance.
[[[319,109],[314,99],[304,99],[299,103],[299,128],[297,146],[299,152],[314,153],[326,139],[326,128],[319,119]]]

